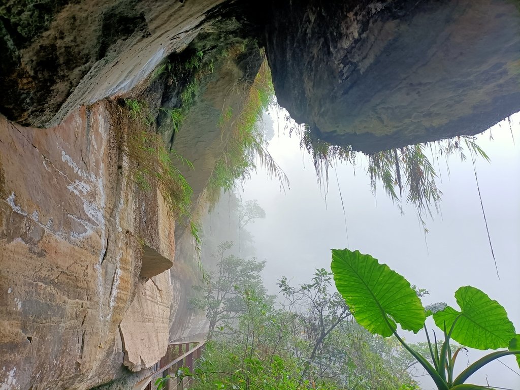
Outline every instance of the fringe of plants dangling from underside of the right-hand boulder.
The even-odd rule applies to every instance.
[[[329,168],[336,162],[355,166],[358,152],[352,146],[329,144],[319,139],[307,125],[293,126],[289,129],[289,134],[293,132],[301,139],[300,147],[313,157],[318,184],[328,183]],[[427,155],[428,151],[431,152],[431,158]],[[457,136],[368,154],[367,173],[372,191],[375,194],[380,182],[387,196],[399,207],[405,194],[406,202],[415,206],[427,232],[425,219],[432,215],[433,210],[438,211],[442,196],[436,183],[438,175],[435,163],[439,165],[439,157],[444,157],[449,173],[448,157],[458,155],[461,160],[466,160],[466,151],[472,156],[490,161],[486,152],[476,144],[474,136]]]

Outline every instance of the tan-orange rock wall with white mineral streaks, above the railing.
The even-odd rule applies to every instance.
[[[174,225],[157,191],[138,193],[118,168],[110,106],[45,130],[0,120],[8,388],[89,388],[112,380],[123,358],[149,367],[166,349],[171,293],[161,272],[173,262]],[[145,219],[153,223],[142,229]],[[139,240],[170,260],[150,279],[139,276],[147,268]]]

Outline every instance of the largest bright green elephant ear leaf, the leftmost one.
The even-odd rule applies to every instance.
[[[332,250],[337,291],[356,321],[368,331],[388,337],[397,329],[417,333],[424,326],[424,308],[410,283],[370,255]]]

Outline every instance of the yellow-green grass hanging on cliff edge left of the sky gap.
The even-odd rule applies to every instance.
[[[230,124],[231,135],[208,183],[210,203],[218,200],[220,188],[229,191],[237,181],[249,178],[256,170],[256,160],[271,177],[280,180],[282,185],[289,184],[287,176],[267,151],[267,142],[259,122],[273,99],[271,71],[264,60],[253,84],[246,86],[241,111],[233,116],[231,108],[227,108],[219,121],[222,126]]]

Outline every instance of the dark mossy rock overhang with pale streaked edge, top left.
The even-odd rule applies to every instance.
[[[200,32],[223,0],[9,0],[0,7],[1,112],[60,123],[80,105],[124,94]]]

